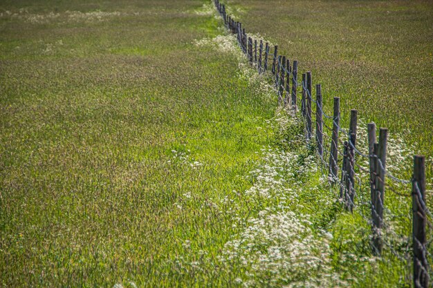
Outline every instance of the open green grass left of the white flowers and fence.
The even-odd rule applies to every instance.
[[[248,189],[275,104],[237,79],[234,57],[194,46],[218,33],[202,5],[1,4],[60,14],[0,20],[1,287],[190,287],[171,264],[182,243],[226,242],[230,219],[203,203]],[[65,20],[96,9],[124,14]]]

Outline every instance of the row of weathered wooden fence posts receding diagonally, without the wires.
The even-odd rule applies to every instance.
[[[270,46],[266,42],[265,48],[263,41],[259,41],[257,55],[257,39],[252,39],[246,34],[245,28],[241,22],[234,21],[230,15],[225,12],[225,5],[219,0],[214,0],[215,6],[223,17],[225,26],[234,35],[237,35],[237,41],[243,53],[250,64],[257,64],[259,74],[268,70],[268,59],[270,58]],[[297,70],[298,63],[293,61],[293,66],[288,57],[278,55],[278,46],[274,46],[272,56],[271,73],[275,77],[275,88],[278,94],[278,104],[290,105],[293,110],[297,111]],[[292,75],[292,81],[290,76]],[[292,87],[290,87],[290,82]],[[285,85],[284,85],[285,84]],[[332,185],[340,186],[340,199],[344,203],[347,211],[353,211],[355,191],[355,154],[356,133],[358,111],[351,110],[349,133],[347,141],[343,143],[342,172],[341,178],[338,177],[338,141],[340,128],[340,97],[333,98],[333,121],[331,135],[331,151],[329,153],[329,162],[326,163],[324,157],[323,144],[323,99],[322,86],[316,84],[316,109],[315,109],[315,142],[317,143],[317,153],[328,167],[329,180]],[[305,137],[307,142],[313,138],[312,126],[312,78],[311,72],[302,74],[302,99],[301,115],[305,120]],[[383,250],[383,240],[380,231],[383,229],[383,207],[385,201],[385,180],[386,180],[386,158],[387,158],[387,128],[380,128],[379,140],[376,142],[376,124],[369,123],[369,177],[371,192],[371,227],[372,241],[371,247],[375,255],[380,256]],[[426,224],[427,224],[427,207],[425,207],[425,157],[421,155],[414,156],[414,174],[412,177],[412,250],[413,250],[413,280],[414,287],[428,286],[428,263],[426,255]]]

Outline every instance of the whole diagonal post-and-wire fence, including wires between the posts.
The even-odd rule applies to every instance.
[[[273,54],[270,55],[268,43],[263,45],[259,41],[257,49],[257,39],[248,37],[245,27],[239,21],[227,15],[225,5],[219,0],[214,0],[216,9],[223,17],[225,26],[234,35],[237,35],[239,47],[245,53],[250,64],[257,65],[259,74],[266,73],[268,70],[268,60],[272,61],[270,72],[277,91],[278,104],[288,106],[293,111],[298,111],[297,88],[298,88],[298,62],[291,61],[284,55],[278,55],[278,46],[274,46]],[[407,261],[401,257],[393,244],[387,242],[383,235],[385,226],[384,211],[389,213],[385,206],[385,187],[387,191],[396,193],[403,197],[410,197],[412,194],[412,280],[414,287],[428,287],[429,285],[429,265],[428,257],[432,257],[427,247],[427,225],[433,228],[430,219],[433,218],[425,204],[425,157],[414,156],[413,176],[410,180],[402,180],[395,177],[387,170],[387,128],[379,129],[379,140],[376,142],[376,125],[369,123],[368,131],[368,153],[362,153],[357,146],[357,122],[358,111],[351,110],[349,129],[340,126],[340,98],[333,98],[333,115],[327,115],[323,111],[322,86],[316,84],[315,99],[312,97],[312,78],[311,72],[302,73],[302,97],[300,100],[300,114],[305,123],[305,139],[307,144],[317,146],[317,155],[320,158],[322,167],[329,176],[332,186],[339,189],[339,198],[347,211],[359,209],[367,222],[371,223],[371,251],[376,256],[380,256],[383,247],[394,253],[402,261]],[[291,79],[290,79],[291,78]],[[291,86],[292,85],[292,86]],[[315,131],[313,131],[312,105],[315,104]],[[331,125],[326,124],[330,121]],[[313,134],[314,132],[314,134]],[[347,141],[340,140],[340,133],[347,135]],[[313,138],[313,136],[315,136]],[[329,143],[328,144],[326,144]],[[339,150],[341,145],[341,151]],[[340,160],[338,159],[340,156]],[[357,157],[367,160],[369,167],[358,164]],[[341,165],[341,174],[338,177]],[[367,179],[370,199],[356,205],[357,190],[362,188],[363,180]],[[412,184],[411,194],[400,193],[393,189],[388,182],[397,184]],[[358,186],[356,185],[358,183]],[[409,188],[407,189],[409,190]],[[362,207],[364,206],[364,207]],[[363,211],[367,210],[367,213]]]

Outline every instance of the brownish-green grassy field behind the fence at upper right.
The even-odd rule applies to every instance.
[[[433,155],[432,1],[225,1],[247,33],[279,45],[322,84],[325,111],[341,97],[365,122],[409,131]]]

